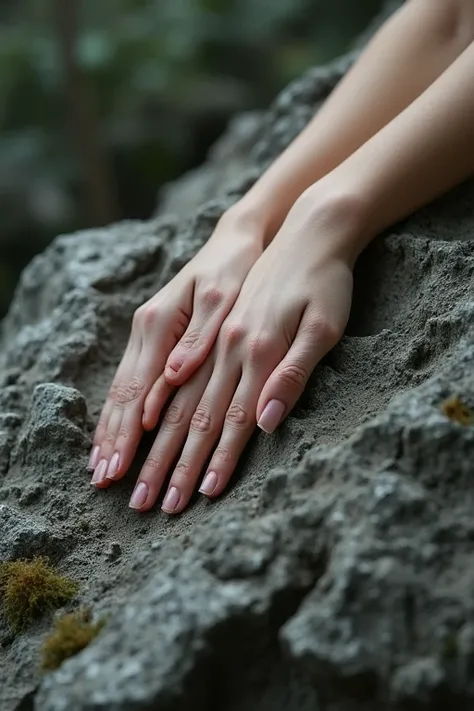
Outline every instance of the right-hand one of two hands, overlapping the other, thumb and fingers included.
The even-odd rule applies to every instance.
[[[213,450],[200,491],[219,495],[257,422],[273,432],[340,339],[351,305],[353,255],[344,249],[350,213],[336,207],[315,216],[306,198],[290,211],[247,276],[211,353],[168,407],[132,508],[153,506],[181,450],[163,510],[185,508]]]

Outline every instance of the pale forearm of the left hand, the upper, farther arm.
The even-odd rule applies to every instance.
[[[410,0],[377,33],[307,128],[240,201],[270,241],[306,188],[416,99],[473,35],[469,0]]]

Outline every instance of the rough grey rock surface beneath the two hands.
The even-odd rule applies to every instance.
[[[25,270],[0,337],[0,556],[49,555],[108,622],[41,678],[51,618],[14,636],[0,611],[1,711],[473,708],[474,427],[440,405],[474,408],[474,182],[362,255],[345,336],[220,501],[138,516],[139,461],[102,492],[85,471],[135,308],[349,62],[278,98],[240,188],[59,237]]]

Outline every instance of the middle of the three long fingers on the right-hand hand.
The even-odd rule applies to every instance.
[[[201,472],[219,440],[225,414],[241,377],[240,362],[221,360],[192,417],[189,434],[171,477],[162,509],[181,513],[196,489]]]

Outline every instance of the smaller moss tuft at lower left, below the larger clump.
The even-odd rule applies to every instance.
[[[42,669],[57,669],[66,659],[87,647],[104,624],[105,620],[92,622],[87,609],[61,617],[41,649]]]

